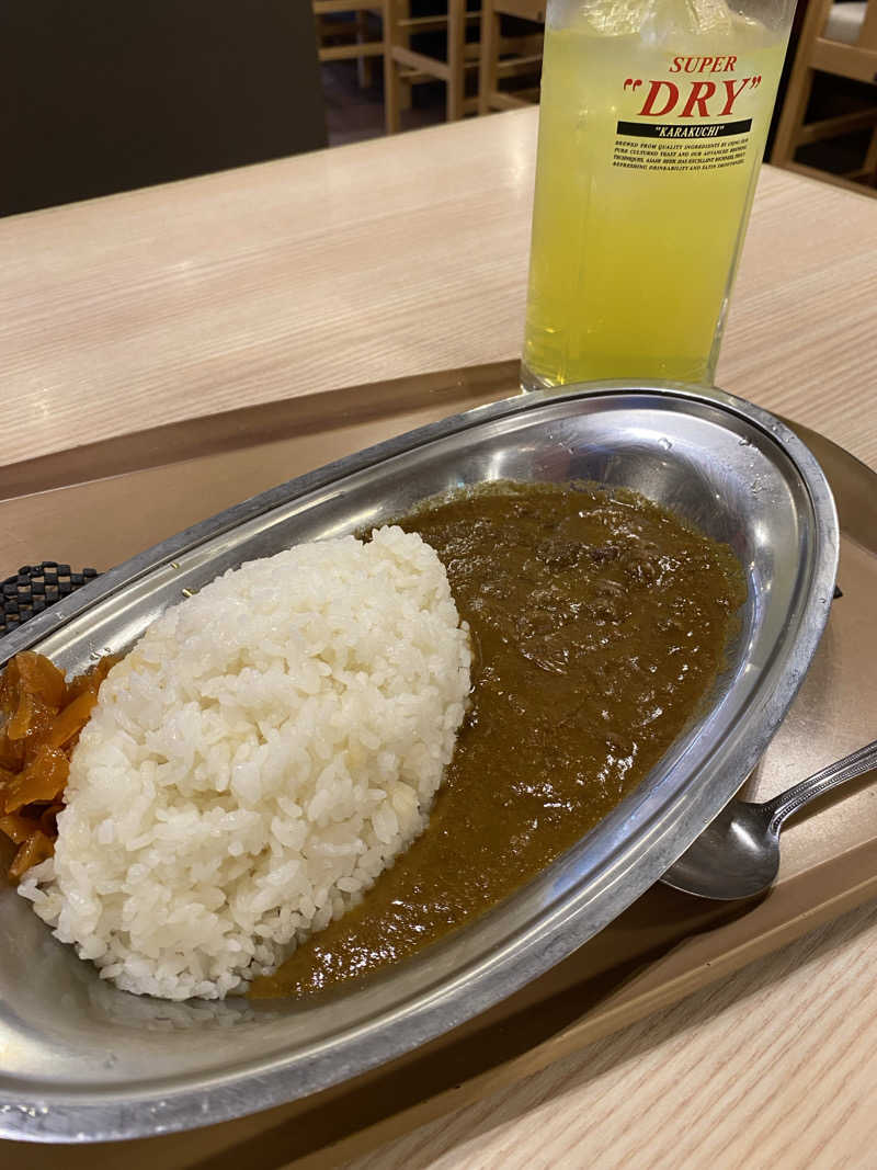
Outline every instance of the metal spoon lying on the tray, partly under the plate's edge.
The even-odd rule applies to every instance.
[[[732,800],[667,870],[662,881],[683,894],[723,902],[753,897],[780,866],[780,830],[787,817],[877,766],[877,741],[808,776],[765,804]]]

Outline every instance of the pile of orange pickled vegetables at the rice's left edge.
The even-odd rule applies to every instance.
[[[54,852],[70,753],[116,655],[68,683],[54,662],[26,651],[0,673],[0,833],[19,846],[18,881]]]

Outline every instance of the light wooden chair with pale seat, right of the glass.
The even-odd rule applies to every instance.
[[[771,153],[771,161],[776,166],[861,192],[862,180],[875,183],[877,179],[877,102],[854,113],[807,122],[816,73],[871,84],[877,82],[877,0],[854,4],[810,0]],[[865,158],[855,171],[831,174],[795,160],[801,146],[869,126],[871,137]]]

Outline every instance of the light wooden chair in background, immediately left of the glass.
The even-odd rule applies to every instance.
[[[544,25],[545,0],[482,0],[478,113],[515,110],[539,101],[538,75],[543,60],[543,34],[503,37],[500,27],[503,16],[517,16],[534,25]],[[515,92],[499,88],[504,78],[527,74],[536,75],[534,87]]]

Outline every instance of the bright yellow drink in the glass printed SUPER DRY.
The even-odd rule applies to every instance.
[[[613,32],[593,15],[552,27],[548,14],[531,387],[710,383],[718,357],[786,32],[724,7],[699,30],[648,33],[630,8],[621,15]]]

